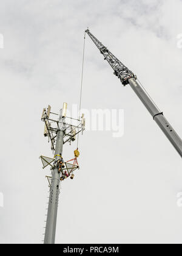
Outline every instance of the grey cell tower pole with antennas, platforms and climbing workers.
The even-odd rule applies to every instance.
[[[45,227],[44,244],[55,243],[56,233],[56,219],[58,212],[58,199],[60,181],[63,181],[70,177],[73,179],[73,172],[79,169],[77,157],[79,156],[78,148],[74,151],[74,158],[64,162],[62,158],[62,148],[65,143],[76,140],[76,135],[79,132],[85,130],[84,115],[79,119],[70,118],[67,114],[67,103],[63,104],[63,108],[59,111],[59,114],[50,112],[51,107],[48,106],[47,110],[44,108],[41,120],[44,121],[44,136],[49,138],[51,149],[53,151],[52,157],[45,157],[41,155],[41,161],[43,169],[50,166],[52,176],[45,176],[49,182],[50,195],[49,206],[47,212],[47,221]],[[57,116],[54,118],[52,116]],[[73,125],[75,120],[76,125]]]

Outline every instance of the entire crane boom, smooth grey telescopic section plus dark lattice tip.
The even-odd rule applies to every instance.
[[[149,110],[152,115],[153,120],[158,124],[161,130],[164,132],[166,137],[172,143],[174,148],[178,151],[178,153],[182,157],[182,140],[169,124],[167,119],[164,117],[163,112],[161,112],[155,103],[152,101],[150,96],[146,93],[146,91],[141,87],[138,83],[135,74],[132,73],[123,63],[118,60],[115,55],[113,55],[107,48],[104,46],[92,33],[87,29],[86,33],[92,39],[93,43],[95,43],[96,47],[99,49],[101,54],[104,55],[104,60],[109,62],[109,65],[113,68],[115,76],[117,76],[121,83],[126,86],[127,84],[132,87],[133,91],[135,91],[138,98],[140,98],[141,102],[145,105],[147,110]]]

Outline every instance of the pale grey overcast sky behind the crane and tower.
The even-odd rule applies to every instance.
[[[0,243],[41,243],[52,157],[42,108],[79,103],[84,30],[138,76],[182,136],[181,0],[6,0],[0,4]],[[181,243],[181,157],[86,37],[82,107],[123,109],[124,136],[84,132],[59,197],[56,243]],[[73,157],[65,146],[63,157]]]

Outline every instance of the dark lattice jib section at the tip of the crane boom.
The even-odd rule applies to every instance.
[[[120,62],[120,60],[118,60],[115,55],[113,55],[112,52],[106,48],[106,46],[104,46],[96,37],[94,37],[94,35],[90,33],[89,29],[86,30],[86,33],[92,39],[93,43],[95,43],[101,54],[104,55],[104,60],[107,60],[109,65],[113,68],[113,74],[120,78],[123,85],[129,84],[128,80],[132,77],[136,79],[135,74],[133,74],[132,71],[124,66],[124,64]]]

